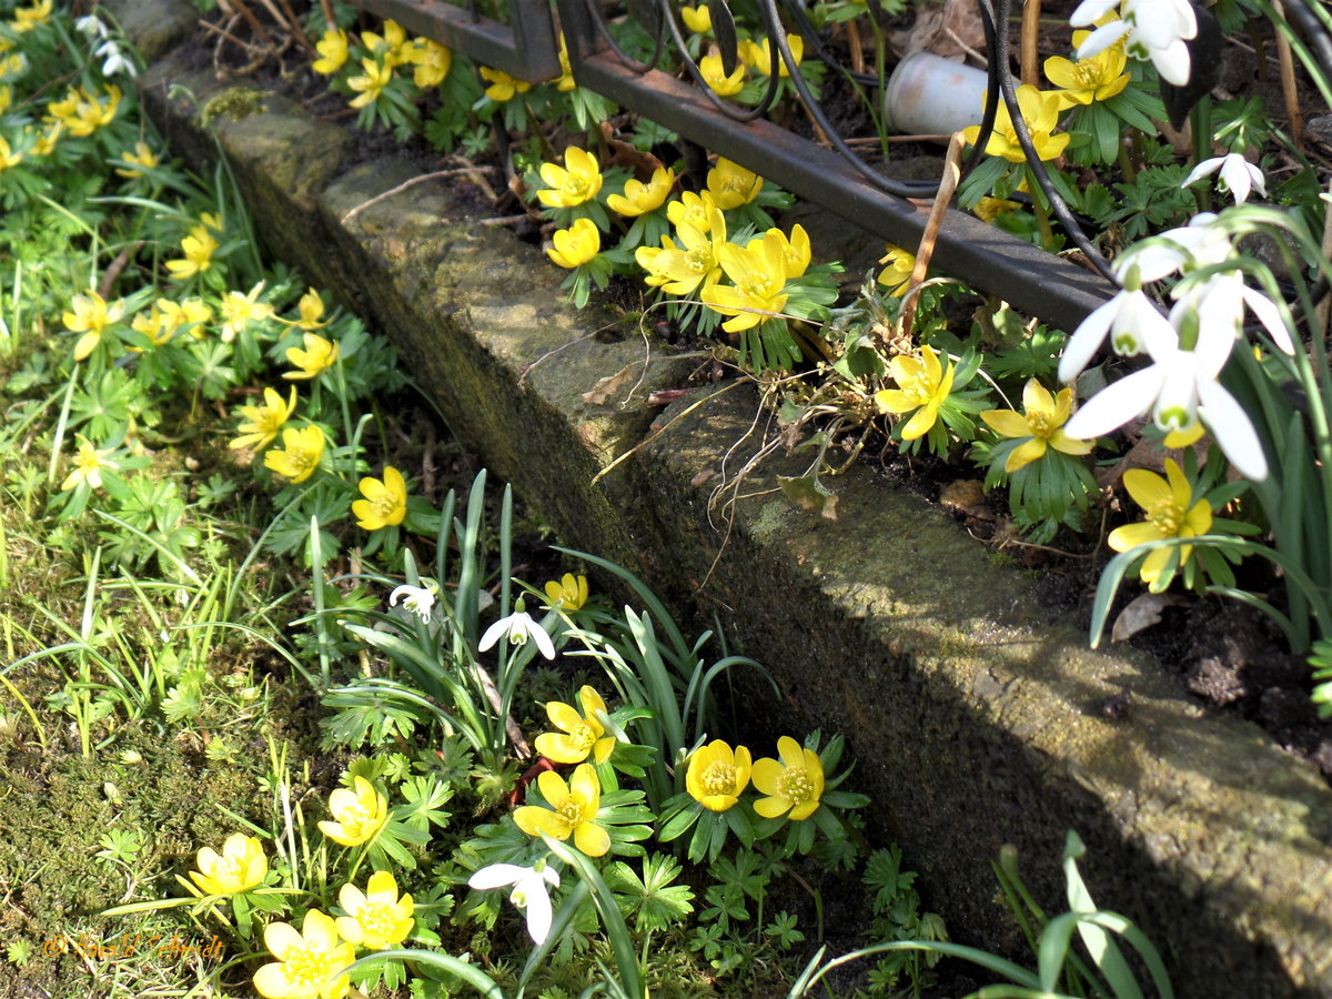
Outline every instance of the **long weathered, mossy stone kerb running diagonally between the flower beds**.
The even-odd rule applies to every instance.
[[[265,237],[397,341],[497,474],[569,543],[667,593],[702,586],[695,610],[781,689],[742,689],[770,734],[846,734],[875,834],[902,843],[956,939],[1010,934],[990,871],[1004,843],[1062,910],[1058,859],[1076,829],[1098,903],[1162,946],[1180,995],[1332,998],[1332,793],[1259,729],[1204,717],[1151,663],[1088,651],[1022,575],[866,469],[838,481],[835,522],[782,496],[777,476],[799,468],[782,461],[710,510],[758,446],[753,394],[705,388],[649,409],[693,362],[633,330],[601,342],[614,318],[559,304],[562,276],[445,182],[368,204],[420,170],[349,166],[342,128],[276,97],[217,101],[216,81],[168,56],[143,95],[196,165],[213,139],[198,105],[168,99],[172,83],[230,109],[210,127]],[[1100,710],[1123,691],[1124,717]]]

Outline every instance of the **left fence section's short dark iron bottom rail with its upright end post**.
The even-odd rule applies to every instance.
[[[442,0],[358,0],[357,5],[518,80],[543,83],[561,75],[546,0],[509,0],[511,25]]]

